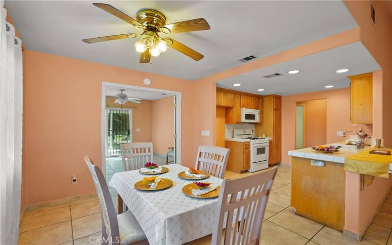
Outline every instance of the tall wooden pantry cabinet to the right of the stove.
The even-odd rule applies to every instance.
[[[265,134],[271,137],[272,153],[269,152],[269,158],[272,164],[278,164],[282,160],[282,102],[281,96],[269,95],[263,97],[263,123],[255,125],[255,135],[261,136]],[[278,108],[278,109],[275,109]]]

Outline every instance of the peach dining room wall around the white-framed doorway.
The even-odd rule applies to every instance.
[[[193,166],[189,156],[203,143],[194,137],[194,118],[201,118],[193,111],[195,82],[25,50],[26,205],[95,192],[83,157],[88,154],[101,166],[101,84],[146,87],[146,77],[149,87],[182,93],[182,164]]]

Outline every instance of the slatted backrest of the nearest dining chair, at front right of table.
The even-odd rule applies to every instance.
[[[212,244],[259,244],[262,221],[276,172],[277,167],[273,167],[244,178],[223,180]],[[224,223],[226,229],[222,238]]]

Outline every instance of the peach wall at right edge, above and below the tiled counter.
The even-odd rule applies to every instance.
[[[344,1],[360,25],[361,42],[369,50],[382,71],[373,74],[373,134],[383,138],[386,147],[392,147],[392,19],[382,1]],[[376,11],[376,26],[370,20],[370,3]],[[376,87],[375,87],[376,86]],[[344,229],[360,236],[391,190],[392,180],[375,178],[364,191],[360,191],[360,174],[346,172],[346,209]]]

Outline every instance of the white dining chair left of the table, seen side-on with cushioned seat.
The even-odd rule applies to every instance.
[[[94,165],[89,156],[85,156],[84,161],[91,172],[97,190],[102,221],[102,244],[147,245],[146,235],[131,211],[116,215],[113,200],[101,170]]]

